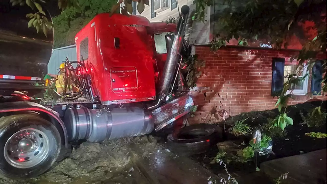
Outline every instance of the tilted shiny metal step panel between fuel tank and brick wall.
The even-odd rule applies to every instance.
[[[187,93],[153,110],[151,113],[154,122],[154,130],[157,132],[166,125],[189,113],[192,105],[194,105],[194,102],[191,93]]]

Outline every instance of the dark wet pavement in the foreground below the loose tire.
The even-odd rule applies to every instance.
[[[136,147],[134,148],[137,150]],[[209,177],[220,180],[199,163],[164,148],[156,150],[145,158],[135,154],[133,160],[152,184],[207,184]]]

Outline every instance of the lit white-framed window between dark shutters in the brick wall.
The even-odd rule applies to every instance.
[[[296,74],[296,77],[303,77],[307,73],[307,66],[304,66],[301,69],[296,69],[296,66],[297,65],[294,64],[284,66],[284,83],[288,80],[287,77],[290,74]],[[288,93],[290,93],[292,90],[293,94],[305,95],[308,91],[308,77],[306,77],[305,80],[299,82],[298,84],[292,84]]]

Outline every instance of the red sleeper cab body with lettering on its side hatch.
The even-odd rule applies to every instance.
[[[77,57],[80,42],[88,37],[85,62],[95,94],[103,104],[129,99],[148,101],[156,96],[155,56],[149,26],[149,21],[142,16],[103,13],[77,33]]]

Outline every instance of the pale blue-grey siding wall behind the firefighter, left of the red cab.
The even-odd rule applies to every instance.
[[[57,75],[58,68],[66,60],[66,57],[69,61],[77,61],[76,45],[53,49],[48,63],[48,73]]]

